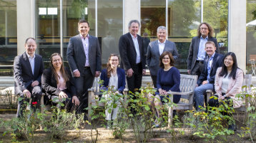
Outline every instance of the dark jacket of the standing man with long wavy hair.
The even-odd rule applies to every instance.
[[[217,39],[214,37],[211,37],[211,38],[208,38],[208,41],[214,42],[215,46],[216,46],[216,53],[220,53]],[[200,44],[200,37],[198,37],[198,36],[193,37],[192,42],[190,43],[190,47],[189,47],[189,55],[187,57],[187,70],[193,70],[193,68],[195,66],[195,62],[197,60],[199,44]],[[207,56],[207,55],[205,55],[205,56]]]

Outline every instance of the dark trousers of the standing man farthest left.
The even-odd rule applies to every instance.
[[[80,77],[74,78],[74,80],[80,102],[79,112],[85,112],[85,108],[88,107],[88,89],[92,88],[94,75],[90,68],[84,68],[83,71],[80,71]]]

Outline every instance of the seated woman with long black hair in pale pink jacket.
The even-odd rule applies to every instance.
[[[217,68],[215,75],[215,98],[211,98],[208,102],[209,106],[218,107],[224,100],[228,105],[234,108],[242,105],[242,100],[235,97],[241,92],[244,73],[237,67],[237,58],[235,53],[226,53],[222,67]],[[230,100],[232,99],[232,100]],[[230,115],[232,116],[232,115]],[[228,129],[235,130],[235,122],[229,125]]]

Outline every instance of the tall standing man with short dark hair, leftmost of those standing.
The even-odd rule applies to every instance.
[[[92,88],[94,77],[99,77],[102,70],[101,51],[98,38],[88,34],[89,23],[78,22],[79,34],[69,39],[67,60],[72,70],[77,95],[81,103],[80,112],[88,106],[88,89]]]

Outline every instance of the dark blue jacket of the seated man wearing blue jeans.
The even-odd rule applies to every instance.
[[[215,56],[212,61],[212,67],[210,71],[210,78],[209,83],[215,84],[215,74],[217,71],[217,68],[221,67],[223,65],[223,58],[224,56],[220,53],[215,53]],[[200,77],[197,80],[197,85],[201,85],[204,80],[207,80],[207,63],[208,63],[209,57],[206,56],[204,59],[204,70],[202,71]]]

